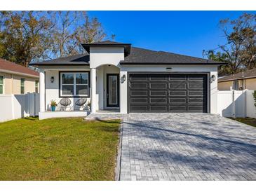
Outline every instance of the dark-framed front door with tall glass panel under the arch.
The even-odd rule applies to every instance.
[[[107,107],[119,107],[119,74],[107,74]]]

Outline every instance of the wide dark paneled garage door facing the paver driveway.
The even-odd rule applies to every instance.
[[[129,112],[207,112],[207,74],[130,74]]]

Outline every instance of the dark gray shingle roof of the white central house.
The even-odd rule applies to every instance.
[[[115,41],[102,41],[97,43],[83,44],[83,48],[87,51],[90,46],[124,46],[127,50],[125,59],[120,64],[224,64],[223,62],[215,62],[211,60],[204,60],[198,57],[191,57],[187,55],[180,55],[175,53],[168,53],[164,51],[148,50],[144,48],[131,47],[129,43],[119,43]],[[74,55],[70,57],[62,57],[55,60],[48,60],[34,63],[31,65],[88,65],[89,54]]]

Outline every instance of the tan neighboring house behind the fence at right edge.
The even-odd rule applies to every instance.
[[[256,68],[218,79],[218,90],[256,90]]]

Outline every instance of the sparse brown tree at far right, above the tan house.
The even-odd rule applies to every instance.
[[[220,27],[227,43],[218,46],[217,54],[208,51],[208,58],[228,63],[220,67],[223,74],[234,74],[242,67],[256,67],[256,15],[244,13],[236,20],[220,20]]]

